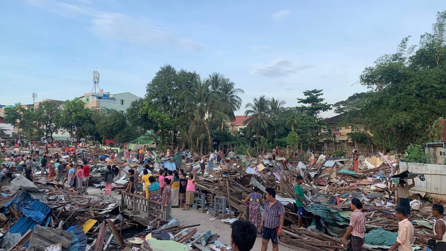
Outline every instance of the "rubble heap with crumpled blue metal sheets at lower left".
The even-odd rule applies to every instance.
[[[107,238],[116,239],[106,239],[108,249],[104,250],[119,250],[124,246],[120,231],[136,225],[122,217],[120,200],[111,196],[79,197],[69,190],[34,184],[22,175],[4,190],[9,191],[0,196],[0,247],[5,251],[49,247],[51,251],[85,251],[87,244],[99,245],[104,222],[112,229]]]

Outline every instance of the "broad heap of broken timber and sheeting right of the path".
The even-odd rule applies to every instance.
[[[338,238],[345,233],[349,224],[351,199],[359,198],[364,205],[368,231],[364,249],[388,249],[390,247],[387,244],[396,240],[394,234],[398,230],[394,211],[397,199],[388,189],[388,181],[392,178],[390,176],[398,169],[398,160],[380,155],[368,158],[359,156],[358,172],[353,171],[352,159],[326,159],[323,155],[313,165],[308,161],[289,160],[286,167],[282,165],[281,157],[268,160],[268,156],[253,158],[240,155],[234,161],[224,161],[223,165],[214,164],[212,172],[206,169],[204,175],[201,174],[198,159],[189,164],[189,169],[198,174],[197,193],[206,196],[205,207],[213,215],[217,213],[215,198],[219,197],[225,198],[227,205],[223,212],[217,209],[219,214],[246,219],[248,205],[244,199],[252,189],[258,187],[261,193],[266,193],[267,187],[275,188],[276,198],[285,206],[286,211],[287,231],[281,242],[292,245],[297,250],[343,250],[339,247],[342,243]],[[310,203],[310,206],[306,206],[304,217],[309,231],[297,230],[296,227],[294,185],[297,175],[304,177],[302,187],[306,201]],[[411,221],[414,222],[415,235],[431,233],[431,204],[420,198],[412,199],[414,212]],[[377,238],[383,234],[382,231],[386,238]],[[297,245],[296,241],[300,242],[302,238],[308,240],[307,243]],[[426,247],[426,241],[418,238],[415,244],[417,247]]]

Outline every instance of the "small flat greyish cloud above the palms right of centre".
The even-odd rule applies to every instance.
[[[265,77],[286,77],[289,74],[296,73],[299,70],[306,70],[313,68],[312,65],[294,65],[293,61],[289,59],[276,59],[268,66],[256,67],[252,70],[253,74]]]

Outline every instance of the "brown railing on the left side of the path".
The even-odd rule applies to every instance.
[[[168,209],[161,202],[149,200],[133,193],[122,192],[121,204],[127,206],[128,209],[147,213],[148,216],[166,221],[169,220]]]

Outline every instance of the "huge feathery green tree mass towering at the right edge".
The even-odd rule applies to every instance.
[[[438,135],[435,121],[446,114],[446,12],[439,12],[431,33],[419,45],[405,37],[396,52],[364,69],[359,81],[370,91],[335,104],[346,123],[370,130],[385,149],[404,150]],[[434,136],[434,139],[438,139]]]

